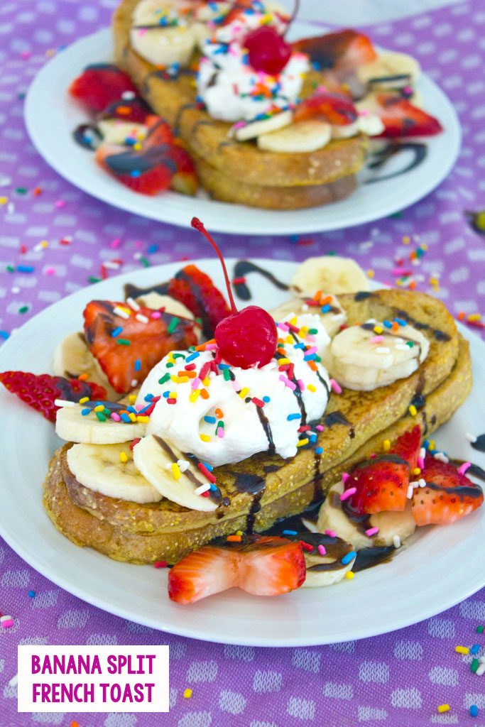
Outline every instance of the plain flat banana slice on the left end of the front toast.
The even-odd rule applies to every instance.
[[[161,494],[135,467],[127,444],[74,444],[68,466],[76,480],[106,497],[128,502],[159,502]]]

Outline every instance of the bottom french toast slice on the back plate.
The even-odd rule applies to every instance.
[[[355,174],[326,184],[278,187],[228,177],[202,157],[193,156],[203,188],[215,199],[262,209],[306,209],[345,199],[356,189]]]

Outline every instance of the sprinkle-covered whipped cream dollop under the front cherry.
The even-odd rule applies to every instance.
[[[321,419],[329,377],[320,357],[330,339],[318,316],[278,323],[280,344],[266,366],[216,364],[209,350],[172,351],[143,382],[137,403],[159,396],[147,427],[178,449],[212,466],[240,462],[257,452],[294,457],[316,441],[300,427]]]

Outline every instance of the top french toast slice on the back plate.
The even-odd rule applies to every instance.
[[[193,72],[185,70],[176,78],[167,79],[166,73],[157,70],[131,47],[129,29],[136,4],[137,0],[122,0],[113,15],[116,65],[131,76],[145,100],[169,122],[191,153],[241,183],[271,187],[323,185],[361,169],[367,148],[363,134],[331,141],[311,153],[265,152],[254,142],[228,139],[231,124],[212,119],[196,103]],[[310,71],[301,97],[311,95],[324,79],[324,72]]]

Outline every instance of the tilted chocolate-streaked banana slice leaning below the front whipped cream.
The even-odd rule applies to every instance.
[[[207,479],[167,441],[153,434],[143,437],[133,448],[133,461],[143,477],[177,505],[204,513],[216,510],[217,505],[210,497],[196,494],[199,487],[207,486]]]

